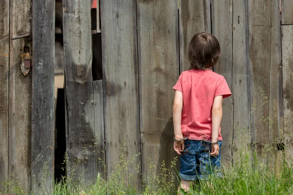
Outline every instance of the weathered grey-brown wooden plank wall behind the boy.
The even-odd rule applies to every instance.
[[[54,179],[54,0],[32,2],[4,0],[0,7],[0,182],[13,177],[25,191],[50,190]],[[90,4],[63,0],[67,168],[79,162],[76,178],[105,178],[121,157],[133,156],[125,181],[141,189],[141,173],[170,165],[177,156],[172,87],[189,69],[190,39],[204,31],[220,41],[213,71],[232,92],[223,102],[223,165],[251,149],[274,168],[280,144],[293,158],[291,0],[100,3],[103,80],[93,80]],[[33,45],[11,40],[24,31],[33,31]],[[21,74],[24,50],[33,50],[33,75]],[[49,175],[42,183],[44,167]]]

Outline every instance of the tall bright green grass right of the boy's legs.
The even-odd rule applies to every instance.
[[[293,168],[286,160],[281,170],[276,173],[253,160],[242,156],[231,170],[224,170],[225,176],[221,179],[210,178],[212,189],[207,182],[200,182],[193,187],[190,194],[194,195],[292,195],[293,194]]]

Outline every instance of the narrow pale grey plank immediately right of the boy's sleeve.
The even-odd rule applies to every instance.
[[[237,158],[239,157],[239,151],[249,151],[248,146],[251,143],[247,14],[247,0],[233,0],[233,161],[239,159]],[[226,48],[223,49],[225,50]]]

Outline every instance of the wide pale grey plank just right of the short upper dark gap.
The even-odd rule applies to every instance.
[[[118,155],[129,158],[141,152],[135,0],[101,1],[101,19],[105,147],[111,174]],[[137,189],[141,188],[139,163],[136,156],[125,170],[126,183],[133,180]]]

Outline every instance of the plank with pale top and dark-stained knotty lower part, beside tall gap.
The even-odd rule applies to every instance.
[[[95,111],[91,76],[92,39],[90,3],[63,0],[67,176],[95,179]]]

